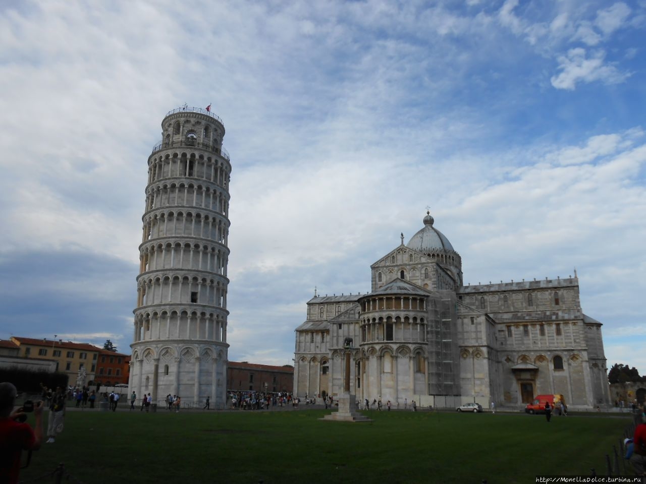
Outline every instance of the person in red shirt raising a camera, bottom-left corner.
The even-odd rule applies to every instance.
[[[36,427],[18,419],[25,416],[17,408],[17,391],[12,383],[0,383],[0,484],[16,484],[20,472],[20,455],[23,450],[37,450],[43,441],[43,402],[34,405]]]

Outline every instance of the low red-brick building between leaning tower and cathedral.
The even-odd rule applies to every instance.
[[[289,392],[294,385],[294,367],[259,365],[246,361],[229,361],[227,390],[255,392]]]

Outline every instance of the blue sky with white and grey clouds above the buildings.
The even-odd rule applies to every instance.
[[[426,206],[465,283],[574,274],[646,374],[646,1],[3,1],[0,338],[129,352],[147,157],[231,154],[229,359],[291,363]]]

